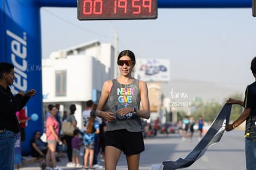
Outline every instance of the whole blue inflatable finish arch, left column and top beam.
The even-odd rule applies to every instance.
[[[252,7],[252,0],[158,0],[157,3],[158,8]],[[31,151],[33,132],[43,132],[40,7],[77,7],[77,0],[2,0],[0,4],[0,62],[11,62],[15,66],[12,92],[31,88],[37,91],[27,103],[27,116],[36,113],[38,120],[28,122],[27,140],[22,143],[23,155]]]

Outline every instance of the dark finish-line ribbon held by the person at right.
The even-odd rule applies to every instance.
[[[226,124],[229,123],[231,108],[232,104],[225,104],[194,150],[190,151],[189,155],[184,159],[179,158],[176,161],[164,161],[163,170],[187,168],[203,156],[208,147],[219,142],[225,131]]]

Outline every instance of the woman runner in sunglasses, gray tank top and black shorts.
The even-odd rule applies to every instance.
[[[96,109],[97,116],[107,123],[105,138],[105,169],[116,169],[122,153],[126,155],[129,170],[139,170],[140,153],[144,151],[141,118],[150,118],[147,84],[132,77],[135,55],[121,51],[117,58],[120,75],[107,80],[102,87]],[[141,104],[141,107],[140,107]],[[104,110],[105,105],[108,111]]]

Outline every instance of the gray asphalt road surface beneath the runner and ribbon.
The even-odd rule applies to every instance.
[[[245,154],[244,154],[244,137],[243,130],[233,130],[224,132],[220,142],[208,148],[205,155],[195,161],[190,167],[185,169],[190,170],[241,170],[245,169]],[[169,134],[168,137],[164,134],[159,134],[156,137],[145,138],[145,151],[141,154],[140,168],[141,170],[150,170],[153,164],[161,164],[163,161],[176,161],[178,158],[185,158],[198,143],[197,132],[194,134],[192,141],[182,142],[181,135]],[[67,158],[61,158],[58,166],[62,169],[82,169],[82,168],[67,168]],[[80,163],[82,163],[82,158]],[[100,162],[104,165],[104,162]],[[39,170],[39,164],[23,165],[19,169],[22,170]],[[103,168],[104,169],[104,168]],[[126,158],[124,155],[119,159],[117,169],[127,170]]]

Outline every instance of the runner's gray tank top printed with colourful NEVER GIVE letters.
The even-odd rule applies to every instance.
[[[123,85],[112,80],[113,86],[109,93],[108,108],[112,113],[116,113],[119,108],[136,108],[140,109],[140,90],[139,80],[129,85]],[[109,121],[106,127],[107,131],[126,129],[129,132],[142,132],[142,122],[140,117],[129,113],[125,117],[117,117],[114,121]]]

